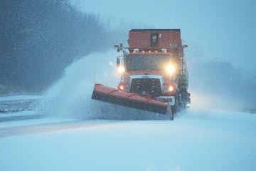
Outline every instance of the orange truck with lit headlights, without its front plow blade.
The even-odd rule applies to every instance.
[[[118,90],[137,93],[171,105],[176,113],[190,103],[188,71],[183,55],[180,30],[131,30],[129,47],[115,46],[121,76]],[[125,51],[128,50],[128,51]]]

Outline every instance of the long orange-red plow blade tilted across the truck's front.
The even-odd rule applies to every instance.
[[[95,84],[92,99],[147,110],[154,113],[166,114],[166,112],[170,113],[171,111],[169,110],[170,106],[168,103],[154,100],[153,98],[146,98],[137,93],[117,90],[116,88],[110,88],[101,84]]]

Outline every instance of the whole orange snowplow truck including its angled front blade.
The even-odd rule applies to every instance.
[[[117,88],[96,83],[92,99],[174,116],[188,108],[188,70],[180,29],[133,29],[128,47],[115,45]]]

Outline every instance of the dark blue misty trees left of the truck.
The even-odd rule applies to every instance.
[[[0,93],[41,92],[74,58],[112,46],[113,33],[67,0],[0,4]]]

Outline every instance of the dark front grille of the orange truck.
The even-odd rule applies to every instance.
[[[130,91],[140,95],[150,94],[154,98],[161,95],[160,80],[158,78],[134,78]]]

